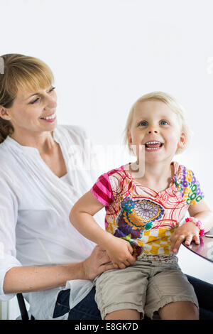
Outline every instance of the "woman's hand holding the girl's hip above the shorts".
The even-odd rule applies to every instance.
[[[95,279],[102,272],[114,269],[114,265],[109,262],[107,252],[99,246],[94,247],[92,254],[82,262],[84,279]]]

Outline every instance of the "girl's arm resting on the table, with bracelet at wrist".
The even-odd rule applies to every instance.
[[[188,210],[191,217],[195,217],[197,220],[202,222],[205,232],[208,232],[213,227],[213,212],[204,200],[197,203]],[[185,222],[183,225],[178,227],[171,237],[171,254],[177,253],[180,244],[185,241],[185,244],[190,245],[192,240],[196,244],[200,244],[199,228],[194,222]]]

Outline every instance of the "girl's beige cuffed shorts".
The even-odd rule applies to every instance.
[[[102,319],[126,308],[152,319],[159,308],[175,301],[191,301],[198,307],[194,288],[176,263],[137,260],[126,269],[105,271],[94,284]]]

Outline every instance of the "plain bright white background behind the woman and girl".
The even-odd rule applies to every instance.
[[[0,53],[44,60],[55,74],[58,122],[96,144],[123,144],[133,102],[161,90],[187,110],[194,137],[176,160],[213,205],[212,0],[0,0]],[[105,169],[126,163],[116,154]],[[213,284],[210,262],[181,247],[180,266]],[[11,318],[16,316],[11,303]]]

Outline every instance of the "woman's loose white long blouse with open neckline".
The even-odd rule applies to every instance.
[[[21,146],[9,136],[0,144],[1,301],[15,296],[3,290],[6,271],[13,266],[81,262],[94,248],[94,243],[80,235],[69,220],[72,205],[101,173],[89,168],[88,163],[75,168],[79,157],[83,156],[84,162],[91,158],[89,147],[92,146],[88,146],[89,139],[79,126],[58,125],[53,138],[60,144],[67,166],[67,174],[62,178],[50,170],[38,149]],[[95,166],[94,154],[92,166]],[[104,228],[104,211],[97,212],[94,218]],[[60,288],[23,293],[23,296],[30,303],[35,319],[52,319],[60,290],[70,289],[70,308],[73,308],[92,287],[92,281],[77,279],[67,281]],[[60,318],[67,316],[68,313]]]

